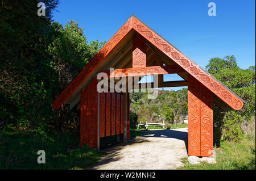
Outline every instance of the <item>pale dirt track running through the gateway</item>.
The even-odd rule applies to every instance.
[[[188,128],[143,131],[135,140],[106,149],[91,169],[176,169],[187,157]]]

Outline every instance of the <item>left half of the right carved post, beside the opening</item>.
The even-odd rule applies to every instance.
[[[200,82],[188,75],[188,155],[201,155],[200,130]]]

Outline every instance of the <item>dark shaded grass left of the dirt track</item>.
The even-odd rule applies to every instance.
[[[6,128],[0,132],[0,169],[85,169],[104,153],[79,147],[80,137],[71,134],[38,134]],[[38,150],[46,152],[39,164]]]

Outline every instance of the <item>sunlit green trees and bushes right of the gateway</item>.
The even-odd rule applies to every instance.
[[[240,111],[223,112],[214,106],[214,140],[217,141],[217,145],[221,137],[225,140],[239,140],[242,123],[247,123],[251,116],[255,115],[255,66],[241,69],[237,66],[236,57],[226,56],[223,59],[212,58],[206,68],[215,78],[245,100]]]

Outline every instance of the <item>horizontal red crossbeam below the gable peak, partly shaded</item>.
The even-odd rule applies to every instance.
[[[162,74],[179,74],[186,71],[179,65],[164,65],[164,66],[146,66],[143,68],[127,68],[115,69],[110,78],[113,77],[130,77],[135,75],[162,75]]]

